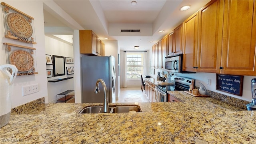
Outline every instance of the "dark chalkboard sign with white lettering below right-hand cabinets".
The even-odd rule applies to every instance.
[[[242,96],[244,76],[216,74],[216,90]]]

